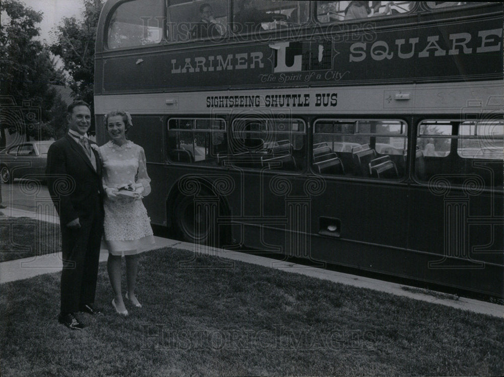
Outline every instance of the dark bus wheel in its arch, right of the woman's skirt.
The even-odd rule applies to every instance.
[[[178,231],[187,242],[211,244],[218,243],[216,232],[216,214],[211,206],[195,206],[193,197],[184,196],[175,206],[175,223]]]

